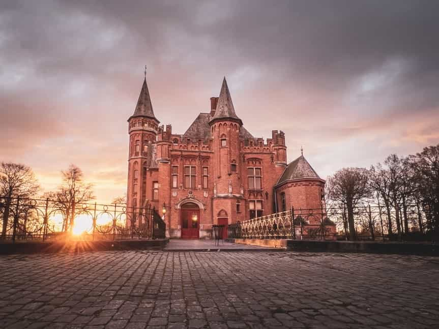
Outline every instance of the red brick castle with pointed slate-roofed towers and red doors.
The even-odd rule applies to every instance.
[[[266,141],[243,126],[224,78],[210,112],[183,134],[159,126],[147,80],[129,123],[127,206],[150,202],[170,237],[210,237],[213,224],[288,210],[320,208],[325,181],[302,156],[287,165],[285,134]],[[312,223],[315,224],[318,223]]]

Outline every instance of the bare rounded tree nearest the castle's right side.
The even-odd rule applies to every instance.
[[[346,207],[349,240],[357,239],[354,208],[371,196],[369,172],[365,168],[343,168],[328,178],[328,197]]]

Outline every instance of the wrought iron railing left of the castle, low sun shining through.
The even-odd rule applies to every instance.
[[[151,204],[60,202],[0,196],[0,217],[9,210],[0,238],[16,240],[134,240],[164,238],[166,224]]]

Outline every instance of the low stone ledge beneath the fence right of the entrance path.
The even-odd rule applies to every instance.
[[[439,246],[428,243],[301,241],[287,239],[227,239],[227,241],[254,246],[284,248],[288,251],[439,256]]]

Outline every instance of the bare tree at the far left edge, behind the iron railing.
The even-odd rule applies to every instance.
[[[30,167],[12,162],[0,165],[0,196],[5,199],[3,210],[2,238],[6,238],[11,203],[13,198],[34,196],[40,187]]]

